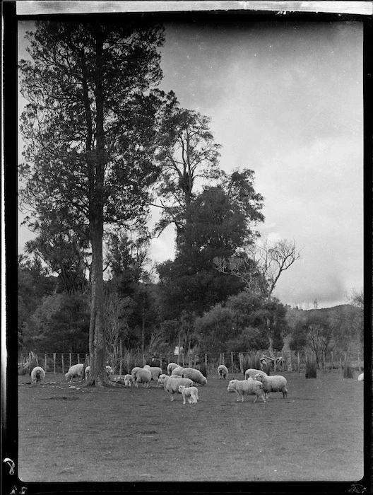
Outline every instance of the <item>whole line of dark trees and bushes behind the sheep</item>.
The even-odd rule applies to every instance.
[[[37,21],[27,38],[18,170],[35,238],[18,258],[20,347],[88,350],[90,384],[107,385],[105,356],[124,348],[271,351],[319,328],[273,297],[300,249],[256,231],[254,171],[225,173],[209,117],[158,88],[162,25]],[[174,259],[150,268],[170,225]]]

